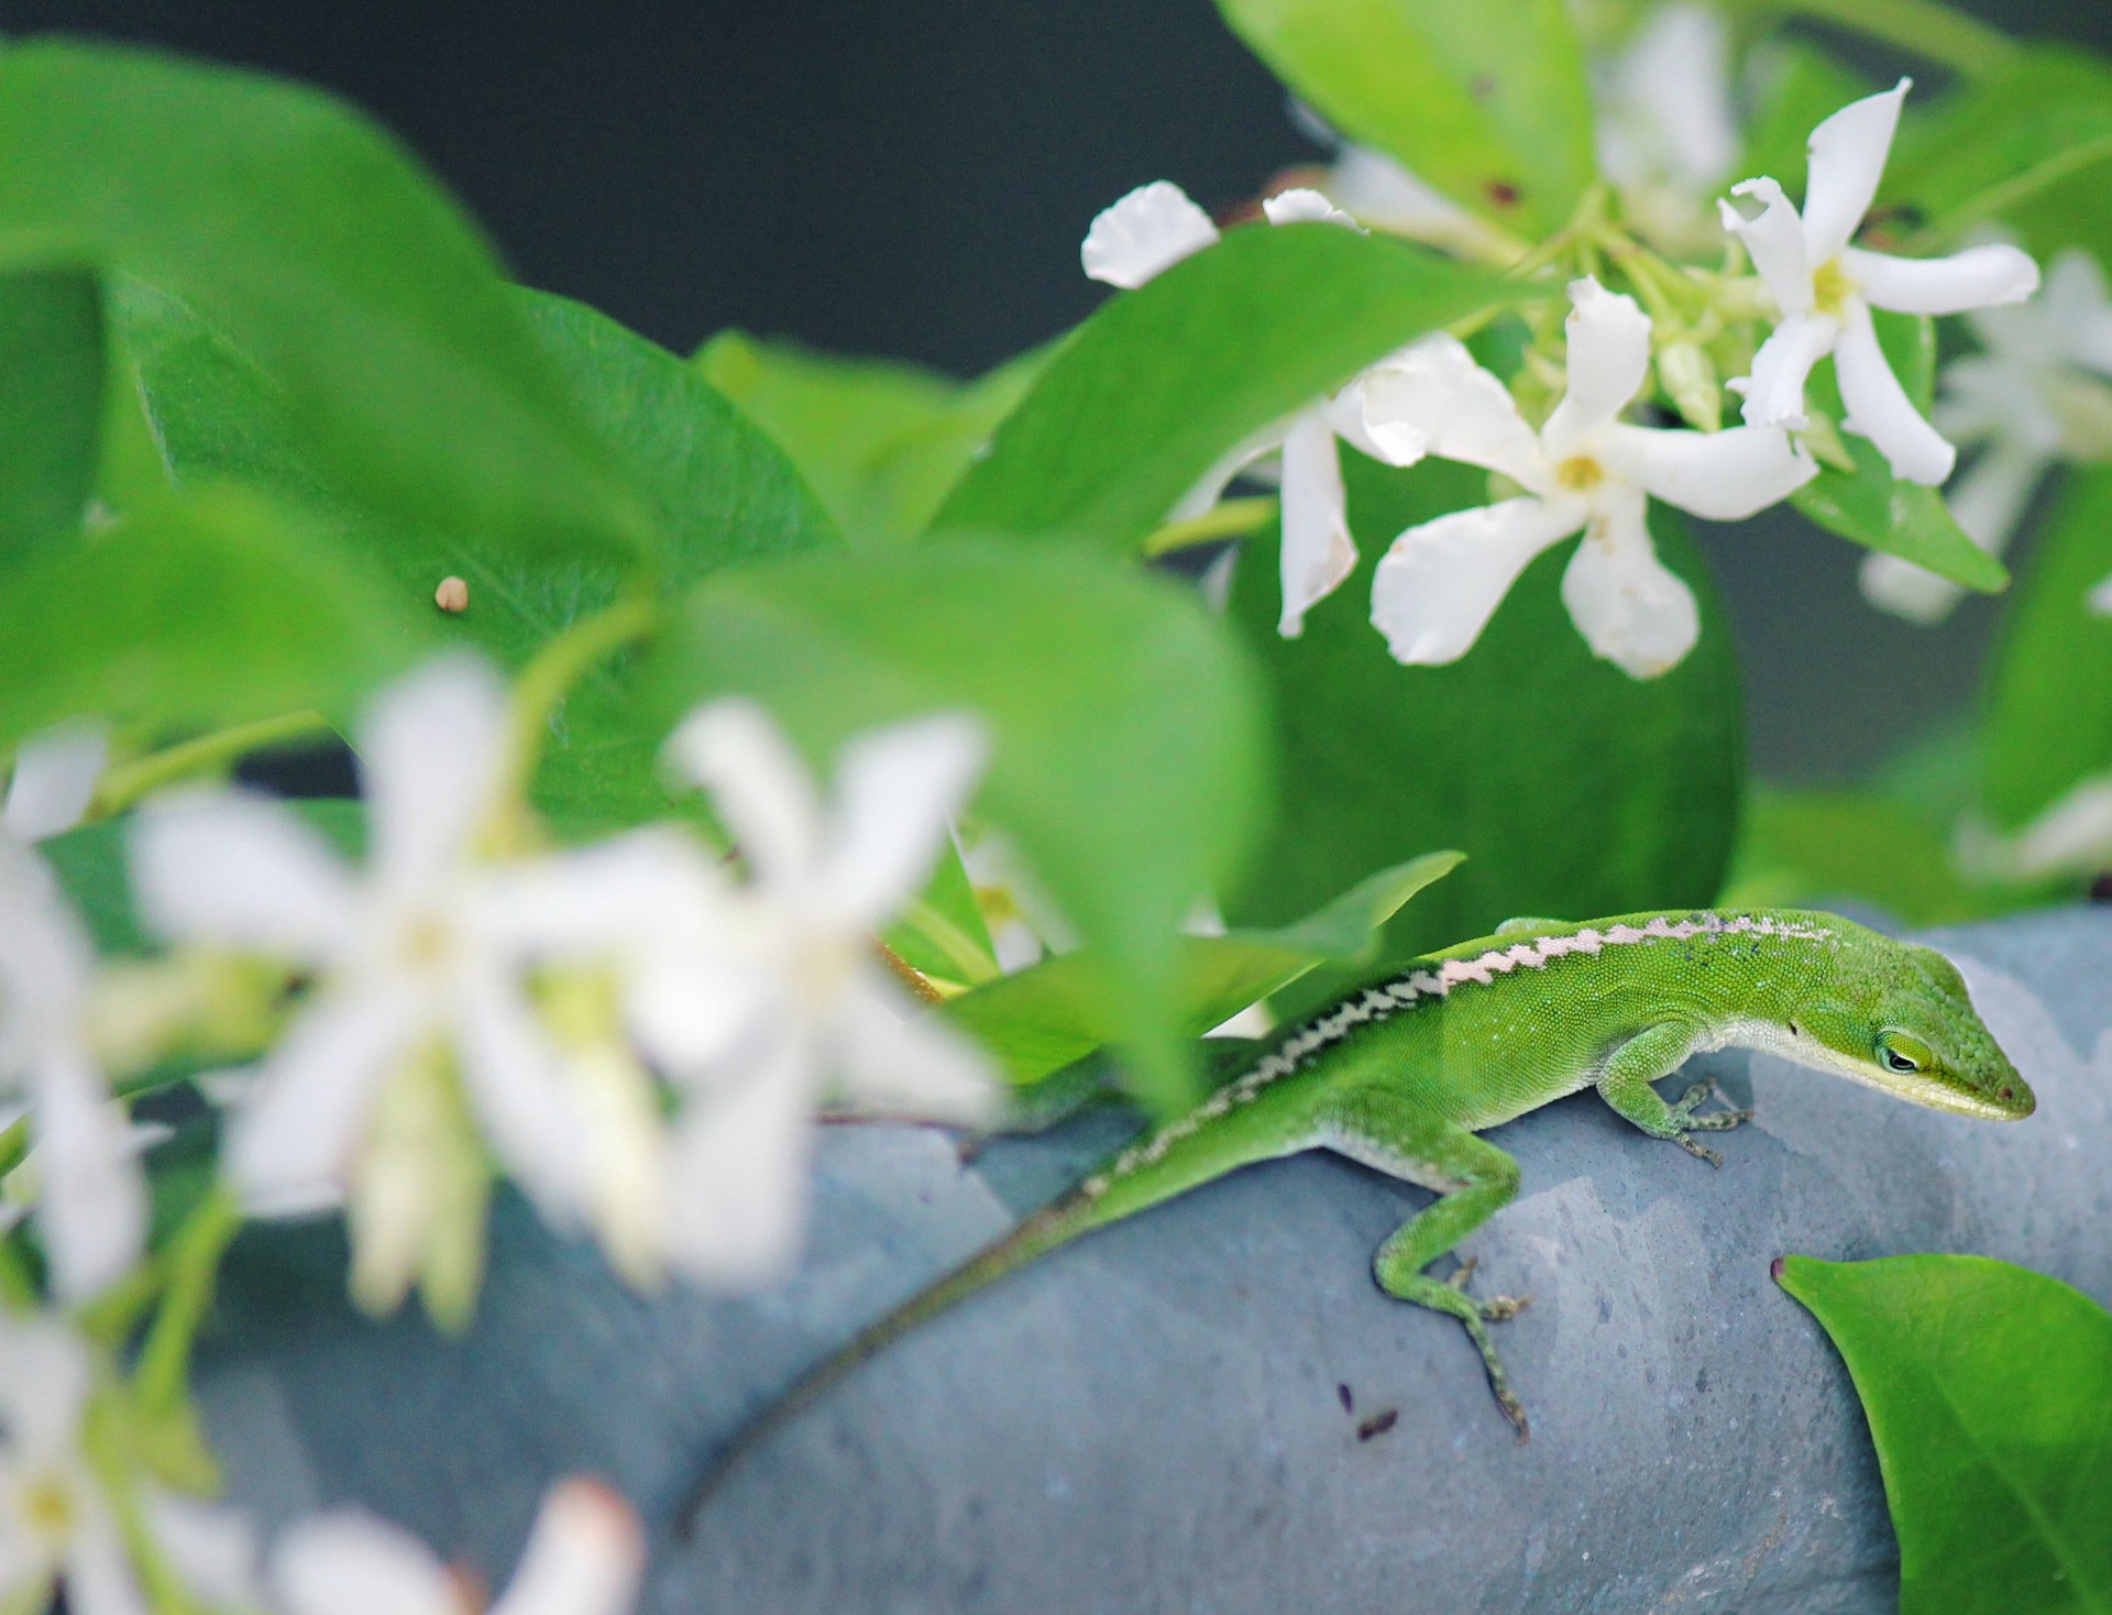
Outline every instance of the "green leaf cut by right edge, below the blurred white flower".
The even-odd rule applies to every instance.
[[[2074,471],[1996,640],[1985,804],[2006,830],[2112,768],[2112,619],[2087,604],[2108,576],[2112,467]]]

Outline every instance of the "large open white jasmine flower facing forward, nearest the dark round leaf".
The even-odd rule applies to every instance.
[[[1569,391],[1538,433],[1449,336],[1426,338],[1373,380],[1373,414],[1421,431],[1432,454],[1525,490],[1394,540],[1371,585],[1371,621],[1396,661],[1464,657],[1527,564],[1582,528],[1563,604],[1599,657],[1654,678],[1694,648],[1700,619],[1694,593],[1658,562],[1647,500],[1736,521],[1816,475],[1780,426],[1698,433],[1622,422],[1649,372],[1649,317],[1588,277],[1571,283],[1569,300]]]

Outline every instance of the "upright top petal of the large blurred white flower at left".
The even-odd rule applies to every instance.
[[[439,657],[380,692],[357,747],[380,880],[422,889],[463,855],[492,811],[507,739],[505,686],[475,657]]]

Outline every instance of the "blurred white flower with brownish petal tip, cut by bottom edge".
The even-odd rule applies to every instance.
[[[425,1543],[361,1509],[302,1520],[272,1550],[281,1615],[625,1615],[642,1575],[638,1516],[596,1480],[549,1490],[488,1609]]]

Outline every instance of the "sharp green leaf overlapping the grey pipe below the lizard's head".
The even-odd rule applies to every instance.
[[[1787,1256],[1778,1279],[1863,1398],[1901,1615],[2112,1609],[2112,1313],[1985,1256]]]

